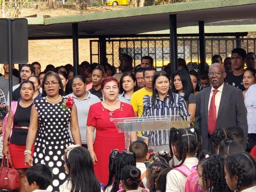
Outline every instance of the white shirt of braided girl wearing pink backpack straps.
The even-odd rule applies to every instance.
[[[190,170],[193,166],[198,165],[196,157],[186,158],[184,163]],[[166,192],[184,192],[187,177],[178,170],[171,170],[166,176]]]

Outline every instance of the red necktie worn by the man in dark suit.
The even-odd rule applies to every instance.
[[[213,95],[211,99],[211,104],[209,108],[209,115],[208,115],[208,133],[212,134],[213,131],[216,129],[217,124],[217,116],[216,116],[216,106],[215,106],[215,95],[218,90],[213,90]]]

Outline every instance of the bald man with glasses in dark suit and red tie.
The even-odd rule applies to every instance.
[[[247,141],[247,119],[243,93],[224,83],[226,72],[219,63],[209,68],[210,87],[197,94],[195,126],[201,130],[203,149],[210,150],[209,137],[216,128],[239,126],[244,131],[244,148]]]

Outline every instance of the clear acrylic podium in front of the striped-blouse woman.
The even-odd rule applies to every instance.
[[[130,132],[170,130],[172,127],[182,129],[189,127],[189,121],[184,121],[181,116],[158,117],[129,117],[113,118],[119,133],[124,133],[125,148],[130,146]]]

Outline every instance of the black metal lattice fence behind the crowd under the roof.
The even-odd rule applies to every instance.
[[[231,51],[240,46],[246,52],[256,51],[256,36],[251,38],[206,38],[206,62],[210,63],[214,54],[223,59],[230,57]],[[106,40],[107,62],[115,67],[119,66],[119,56],[129,54],[133,58],[134,67],[140,64],[141,57],[149,55],[154,59],[155,67],[162,67],[170,62],[169,38],[127,38]],[[90,41],[91,63],[100,62],[99,40]],[[178,58],[187,62],[199,63],[199,39],[196,37],[178,38]]]

